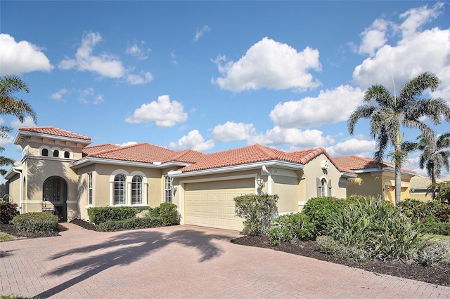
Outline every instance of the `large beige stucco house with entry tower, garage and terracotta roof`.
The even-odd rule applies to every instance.
[[[88,219],[94,206],[159,206],[172,202],[181,224],[243,228],[233,198],[278,194],[278,213],[301,211],[316,196],[347,196],[356,173],[323,148],[284,152],[263,145],[203,154],[140,143],[90,146],[84,135],[54,127],[20,128],[23,158],[5,178],[21,213],[54,206],[63,220]]]

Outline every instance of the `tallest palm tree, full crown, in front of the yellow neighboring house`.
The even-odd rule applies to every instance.
[[[401,150],[404,134],[401,126],[418,128],[424,135],[432,135],[432,129],[420,121],[428,117],[435,125],[440,124],[442,117],[450,121],[450,106],[442,98],[418,98],[430,88],[435,91],[439,86],[439,78],[430,72],[424,72],[411,79],[401,88],[397,97],[382,85],[373,85],[364,94],[366,104],[356,107],[347,121],[350,134],[359,119],[370,119],[370,135],[377,140],[374,158],[378,166],[383,165],[383,157],[387,147],[394,147],[395,165],[395,204],[400,201],[401,194],[401,162],[407,152]]]

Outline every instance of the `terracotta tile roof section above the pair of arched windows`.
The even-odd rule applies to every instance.
[[[193,163],[201,155],[203,155],[203,153],[195,152],[193,150],[177,152],[175,150],[169,150],[165,147],[160,147],[158,145],[151,145],[150,143],[143,142],[138,143],[136,145],[128,145],[125,147],[114,147],[110,150],[91,152],[88,154],[88,157],[133,161],[142,163],[153,163],[153,162],[166,163],[170,161]]]

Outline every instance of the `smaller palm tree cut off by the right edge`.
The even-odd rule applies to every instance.
[[[432,185],[436,185],[436,178],[441,175],[441,169],[445,166],[450,171],[450,133],[444,133],[437,138],[435,135],[420,135],[417,143],[418,150],[422,151],[419,160],[420,169],[426,168],[431,178]],[[432,199],[435,199],[435,188],[432,188]]]

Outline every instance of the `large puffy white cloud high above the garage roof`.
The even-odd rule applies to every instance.
[[[267,37],[253,45],[238,62],[226,62],[224,56],[218,56],[214,62],[223,77],[212,82],[229,91],[260,88],[303,91],[320,85],[308,72],[321,70],[318,50],[307,47],[297,52],[288,44]]]

